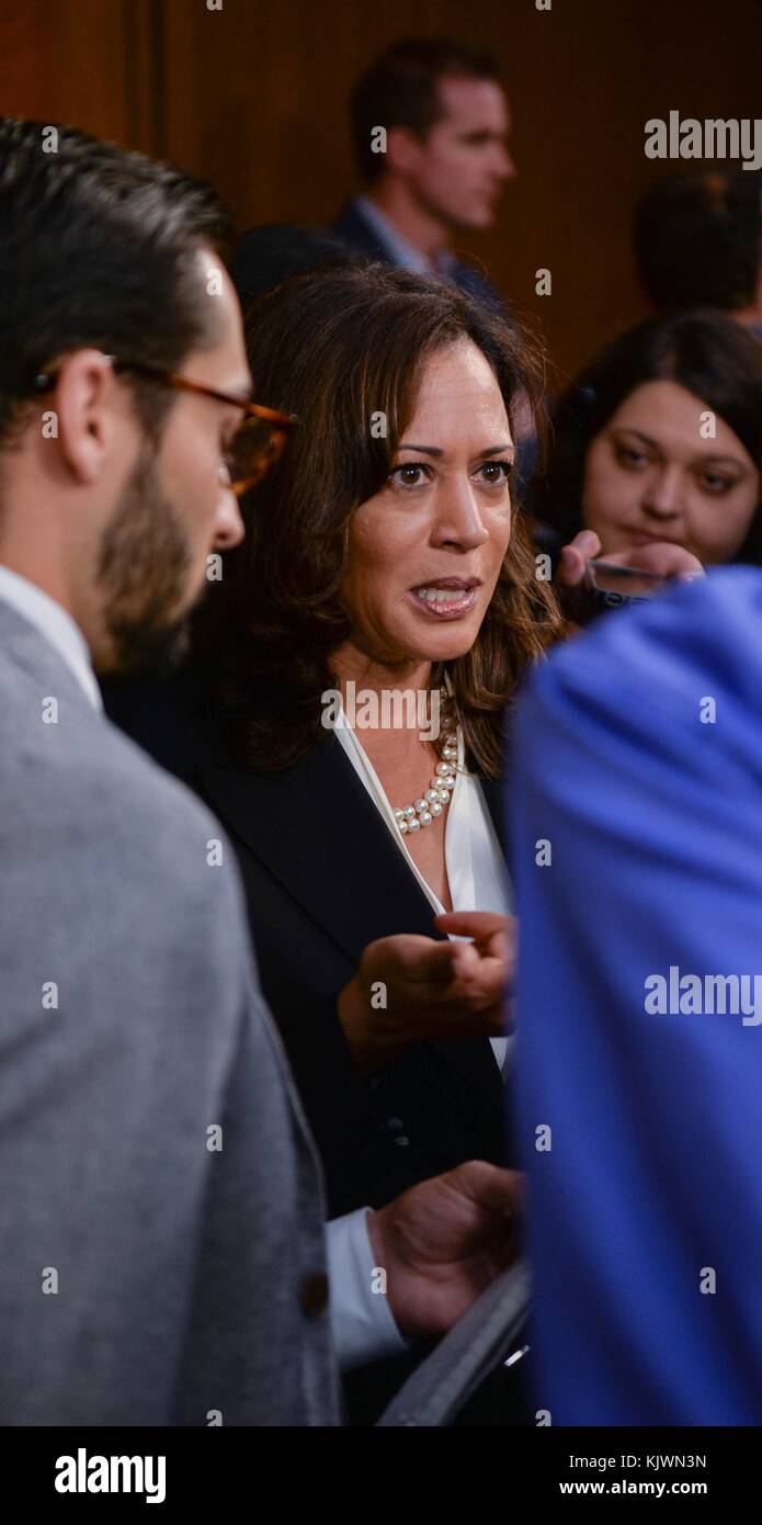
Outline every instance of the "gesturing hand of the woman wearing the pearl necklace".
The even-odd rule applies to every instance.
[[[398,933],[366,947],[338,996],[341,1026],[361,1075],[427,1039],[500,1035],[515,970],[517,923],[486,910],[436,917],[440,942]]]

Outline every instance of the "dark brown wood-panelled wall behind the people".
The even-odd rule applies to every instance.
[[[239,229],[325,223],[352,191],[346,95],[411,29],[504,61],[520,177],[462,242],[533,310],[561,375],[643,316],[651,116],[762,116],[762,0],[0,0],[0,108],[67,120],[212,180]],[[535,296],[550,268],[553,294]]]

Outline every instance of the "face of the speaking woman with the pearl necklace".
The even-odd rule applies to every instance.
[[[351,523],[341,604],[366,656],[440,662],[472,647],[511,540],[514,456],[482,351],[437,351],[386,486]]]

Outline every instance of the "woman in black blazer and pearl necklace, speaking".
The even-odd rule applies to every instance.
[[[504,1154],[503,729],[564,628],[511,493],[543,361],[447,282],[357,264],[261,297],[248,351],[297,424],[210,583],[184,729],[145,694],[111,712],[230,831],[335,1214]]]

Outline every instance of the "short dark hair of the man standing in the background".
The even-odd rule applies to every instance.
[[[375,180],[384,154],[373,154],[375,127],[408,127],[425,139],[445,114],[437,92],[440,79],[494,79],[500,69],[492,53],[442,38],[405,38],[389,47],[352,88],[349,117],[360,174]]]

